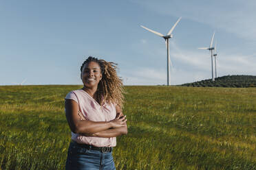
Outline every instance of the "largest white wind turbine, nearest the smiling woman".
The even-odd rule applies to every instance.
[[[180,17],[180,19],[182,19],[182,17]],[[142,25],[140,25],[140,27],[147,29],[149,32],[153,32],[153,34],[156,34],[162,38],[164,38],[166,46],[167,46],[167,86],[169,86],[171,83],[170,81],[170,64],[171,64],[171,60],[170,60],[170,53],[169,53],[169,38],[173,38],[173,34],[171,34],[173,32],[173,29],[176,27],[176,25],[180,22],[180,19],[178,19],[178,21],[176,21],[176,23],[173,25],[173,27],[171,27],[170,31],[167,33],[166,36],[164,36],[163,34],[153,31],[152,29],[149,29],[147,27],[144,27]],[[171,64],[172,65],[172,64]]]

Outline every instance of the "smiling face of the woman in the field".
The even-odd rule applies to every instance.
[[[81,79],[87,88],[97,88],[102,77],[100,65],[97,62],[89,62],[83,66]]]

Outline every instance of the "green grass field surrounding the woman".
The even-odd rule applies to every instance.
[[[81,86],[0,86],[0,169],[64,169],[64,97]],[[256,88],[126,86],[116,169],[256,169]]]

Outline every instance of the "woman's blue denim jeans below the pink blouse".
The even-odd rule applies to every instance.
[[[115,170],[112,151],[102,153],[100,151],[86,149],[75,143],[70,143],[67,151],[66,170]]]

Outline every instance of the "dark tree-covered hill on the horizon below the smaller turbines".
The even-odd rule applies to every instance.
[[[181,84],[180,86],[193,87],[256,87],[256,76],[254,75],[225,75],[200,82]]]

